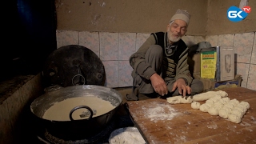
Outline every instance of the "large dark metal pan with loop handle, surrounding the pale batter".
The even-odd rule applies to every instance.
[[[43,114],[50,108],[50,106],[53,106],[55,102],[62,102],[66,98],[76,97],[86,99],[86,96],[91,94],[95,95],[95,97],[109,101],[114,106],[114,110],[110,110],[106,114],[92,117],[93,108],[88,108],[88,106],[76,106],[74,109],[70,110],[69,121],[53,121],[43,118]],[[38,119],[38,126],[45,127],[51,135],[64,140],[78,140],[82,138],[90,138],[104,130],[121,103],[122,95],[119,94],[117,90],[105,86],[79,85],[68,86],[41,95],[31,103],[30,110]],[[90,117],[74,120],[71,116],[72,113],[74,110],[81,108],[90,110]],[[56,111],[56,113],[58,113],[58,111]]]

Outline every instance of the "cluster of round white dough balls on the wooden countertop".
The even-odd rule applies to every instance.
[[[230,100],[228,97],[222,98],[217,95],[206,100],[206,103],[202,105],[199,102],[192,102],[191,107],[202,112],[208,112],[210,115],[227,118],[231,122],[240,123],[243,115],[250,108],[250,104],[248,102],[239,102],[235,98]]]

